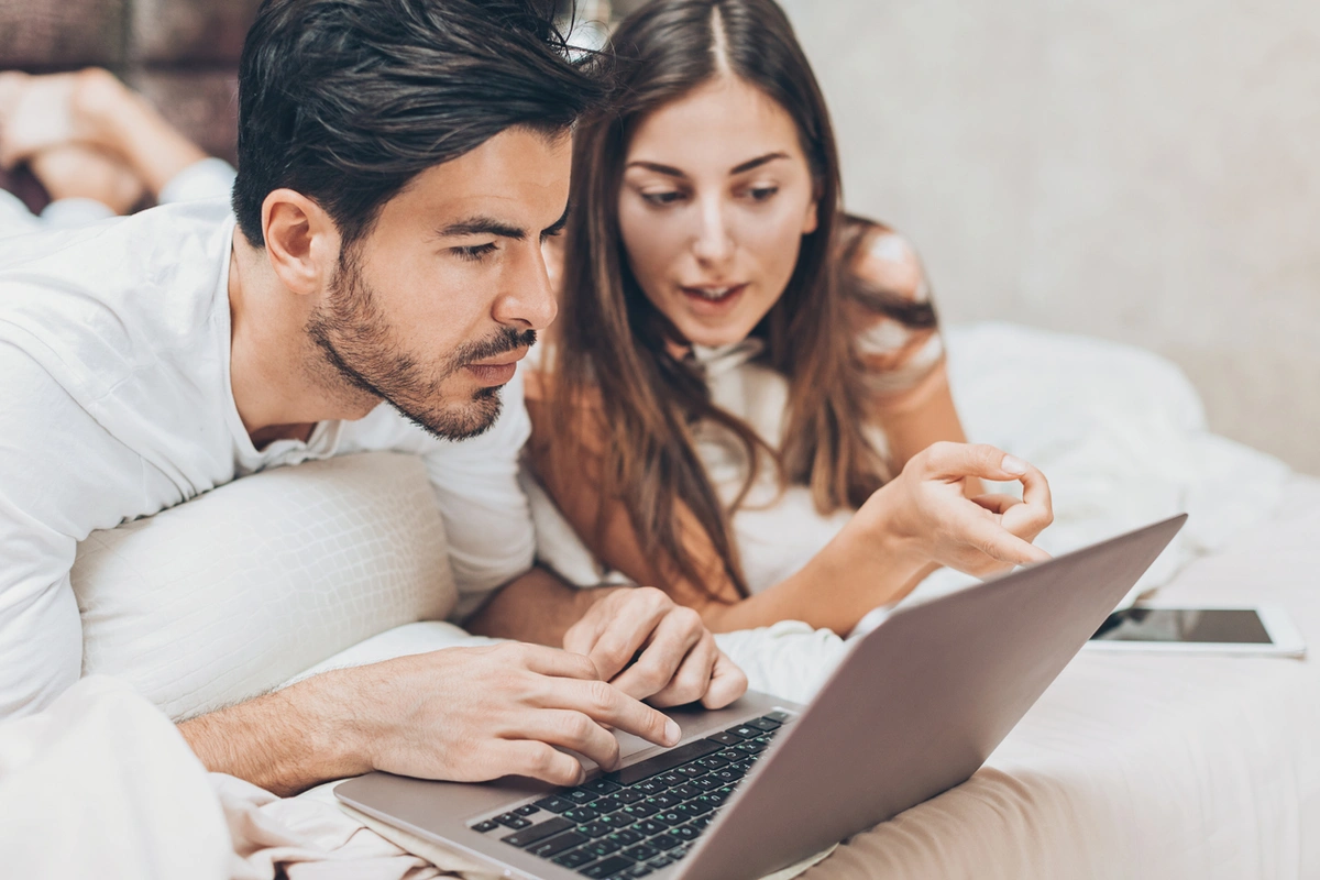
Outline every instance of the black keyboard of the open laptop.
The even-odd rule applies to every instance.
[[[644,877],[688,855],[791,719],[768,712],[471,827],[593,880]]]

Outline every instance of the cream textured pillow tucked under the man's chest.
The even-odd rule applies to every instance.
[[[235,480],[78,546],[83,676],[181,719],[454,607],[421,459],[347,455]]]

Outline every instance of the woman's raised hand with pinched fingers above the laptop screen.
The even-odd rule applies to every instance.
[[[966,478],[1019,480],[1022,500],[1011,495],[969,499],[962,488]],[[871,540],[879,537],[902,559],[983,578],[1048,559],[1031,541],[1052,521],[1049,484],[1031,464],[993,446],[935,443],[913,455],[849,525]]]

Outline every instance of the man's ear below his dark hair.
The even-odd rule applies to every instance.
[[[301,193],[281,189],[261,202],[267,259],[290,292],[317,294],[339,264],[339,230],[330,215]]]

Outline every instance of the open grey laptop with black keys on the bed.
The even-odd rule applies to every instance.
[[[966,781],[1185,520],[902,607],[807,706],[667,710],[678,745],[574,788],[371,773],[335,794],[508,877],[762,877]]]

